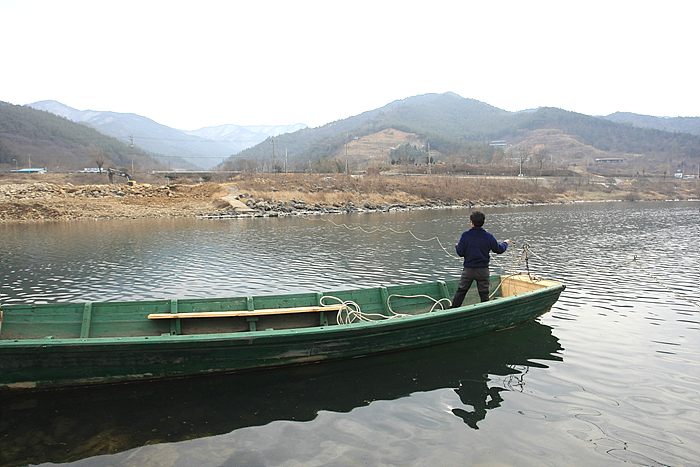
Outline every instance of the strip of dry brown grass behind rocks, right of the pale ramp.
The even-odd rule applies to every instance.
[[[311,204],[545,203],[625,199],[629,193],[641,193],[640,199],[700,197],[700,182],[670,179],[633,179],[620,183],[590,177],[543,181],[513,177],[257,174],[240,175],[231,182],[240,192],[254,198],[283,201],[295,198]]]

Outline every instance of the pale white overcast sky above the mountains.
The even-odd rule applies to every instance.
[[[320,126],[452,91],[700,116],[700,2],[0,0],[0,101],[183,130]]]

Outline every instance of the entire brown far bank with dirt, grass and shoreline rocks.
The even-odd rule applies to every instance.
[[[96,177],[96,176],[95,176]],[[251,174],[219,183],[102,184],[92,175],[0,177],[0,222],[425,209],[570,202],[697,199],[699,183],[674,180]],[[104,178],[104,177],[102,177]],[[162,182],[153,178],[143,180]],[[87,182],[87,183],[81,183]]]

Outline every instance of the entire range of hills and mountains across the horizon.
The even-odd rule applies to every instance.
[[[448,92],[397,100],[317,128],[220,125],[182,131],[135,114],[81,111],[56,101],[0,102],[5,167],[80,170],[104,161],[105,167],[136,171],[364,171],[392,164],[400,147],[404,160],[424,164],[429,150],[433,162],[454,170],[460,164],[508,164],[522,154],[533,155],[525,160],[534,163],[537,153],[540,168],[585,167],[610,158],[624,160],[627,173],[697,172],[700,118],[595,117],[548,107],[508,112]]]

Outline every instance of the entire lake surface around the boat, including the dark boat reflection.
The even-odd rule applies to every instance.
[[[346,362],[4,394],[0,466],[700,465],[700,203],[483,211],[515,242],[492,272],[566,283],[550,313]],[[0,304],[456,278],[468,214],[0,225]]]

